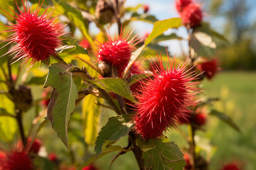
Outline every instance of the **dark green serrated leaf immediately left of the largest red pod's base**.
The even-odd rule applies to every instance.
[[[106,140],[117,141],[121,137],[127,135],[133,127],[133,123],[128,122],[124,117],[120,115],[110,117],[108,123],[103,128],[101,128],[100,133],[98,133],[94,148],[96,155],[101,154],[102,146]]]

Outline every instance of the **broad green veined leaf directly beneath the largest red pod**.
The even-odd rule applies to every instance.
[[[148,151],[144,151],[142,154],[146,169],[183,170],[187,165],[182,152],[174,142],[151,139],[147,145],[153,148],[148,148]]]

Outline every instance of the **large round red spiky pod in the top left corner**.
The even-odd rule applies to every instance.
[[[20,10],[16,3],[19,13],[17,14],[12,10],[16,16],[9,14],[16,20],[16,24],[6,26],[10,29],[6,29],[4,32],[14,33],[3,42],[9,42],[8,44],[14,42],[15,45],[9,49],[7,54],[16,53],[14,59],[16,61],[24,59],[23,63],[27,63],[28,59],[31,58],[30,64],[32,66],[35,62],[47,61],[51,55],[56,55],[55,48],[61,44],[58,37],[63,35],[61,32],[63,29],[55,26],[56,17],[50,19],[53,11],[46,14],[46,10],[43,15],[38,15],[43,2],[39,5],[39,1],[34,12],[29,7],[28,1],[26,1],[27,7],[23,1],[22,4],[24,11]]]

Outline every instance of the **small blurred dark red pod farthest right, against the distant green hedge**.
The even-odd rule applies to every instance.
[[[207,59],[205,60],[205,62],[202,62],[199,65],[197,65],[197,68],[200,71],[204,71],[204,75],[207,77],[207,79],[210,80],[218,71],[217,59]]]

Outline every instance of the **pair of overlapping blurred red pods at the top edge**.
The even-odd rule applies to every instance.
[[[184,25],[195,28],[201,24],[203,12],[199,3],[193,3],[192,0],[176,0],[175,5]]]

